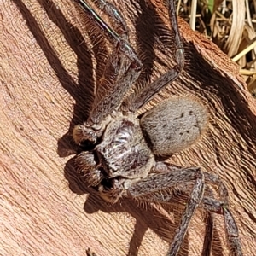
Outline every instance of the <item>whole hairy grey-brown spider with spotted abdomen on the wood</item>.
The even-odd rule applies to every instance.
[[[177,167],[160,161],[188,148],[206,131],[207,108],[193,96],[172,97],[138,116],[137,112],[183,70],[183,43],[177,27],[173,0],[167,1],[175,33],[177,65],[133,96],[125,97],[142,70],[128,39],[128,28],[119,11],[104,0],[94,3],[109,16],[109,27],[84,0],[77,0],[85,13],[113,44],[89,118],[73,129],[75,143],[90,143],[92,150],[78,154],[75,163],[84,183],[95,187],[110,203],[121,197],[137,201],[171,203],[172,191],[179,188],[188,201],[167,255],[177,255],[197,207],[224,216],[230,251],[241,256],[236,222],[229,210],[228,191],[216,176],[200,167]],[[125,99],[125,100],[124,100]],[[192,183],[191,186],[181,186]],[[211,186],[212,185],[212,186]],[[218,188],[213,192],[212,188]],[[214,196],[218,194],[218,196]],[[217,199],[216,199],[217,197]],[[213,217],[212,217],[213,218]],[[212,226],[208,224],[204,255],[210,255]],[[208,248],[208,249],[207,249]]]

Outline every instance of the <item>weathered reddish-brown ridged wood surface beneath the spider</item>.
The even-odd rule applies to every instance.
[[[154,40],[169,27],[166,8],[159,0],[122,2],[131,44],[144,53],[143,79],[153,80],[174,63],[163,37]],[[87,247],[98,255],[164,255],[177,225],[172,212],[133,201],[108,207],[73,175],[70,131],[85,119],[105,41],[86,32],[72,1],[4,0],[0,19],[0,255],[84,255]],[[195,94],[211,124],[200,143],[171,161],[223,178],[244,254],[256,255],[256,103],[234,63],[183,20],[180,29],[184,71],[154,103]],[[203,235],[198,212],[183,255],[201,255]],[[228,255],[223,236],[218,217],[212,255]]]

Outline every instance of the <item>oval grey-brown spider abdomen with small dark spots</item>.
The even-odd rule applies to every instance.
[[[209,115],[195,97],[172,97],[143,114],[141,126],[154,154],[169,156],[194,144],[206,131]]]

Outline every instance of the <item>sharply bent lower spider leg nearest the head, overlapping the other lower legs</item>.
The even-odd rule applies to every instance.
[[[170,202],[170,190],[175,186],[183,183],[195,181],[189,201],[184,209],[181,222],[175,232],[168,256],[177,255],[179,248],[183,243],[184,236],[189,227],[189,222],[195,214],[196,208],[201,203],[204,195],[204,175],[200,168],[185,168],[177,170],[174,168],[173,172],[165,172],[154,174],[150,177],[144,178],[132,185],[128,189],[128,195],[136,200],[156,201],[156,202]]]

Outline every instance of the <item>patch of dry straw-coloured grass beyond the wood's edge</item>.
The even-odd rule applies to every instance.
[[[248,90],[254,94],[256,82],[251,76],[256,72],[256,1],[180,0],[177,13],[237,62]]]

